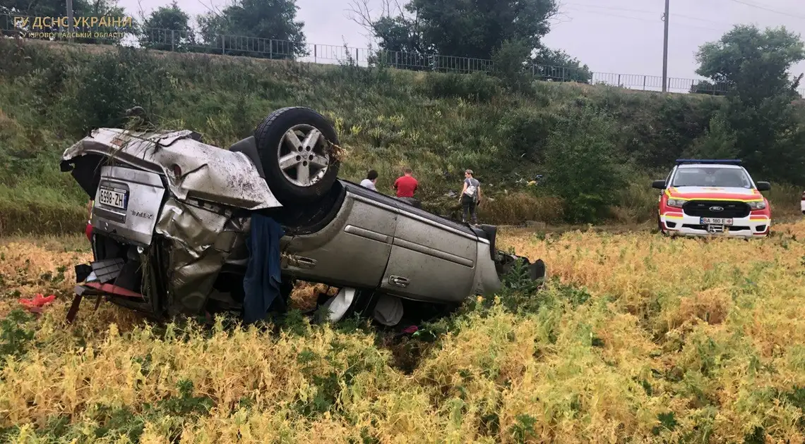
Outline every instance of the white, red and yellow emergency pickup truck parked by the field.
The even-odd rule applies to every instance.
[[[771,211],[761,191],[769,182],[754,182],[740,160],[678,159],[661,189],[657,223],[662,234],[724,235],[762,238],[769,234]]]

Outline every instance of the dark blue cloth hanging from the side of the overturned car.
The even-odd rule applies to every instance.
[[[279,289],[282,283],[279,239],[285,234],[283,227],[274,219],[253,214],[249,239],[249,261],[246,263],[246,276],[243,278],[243,320],[253,324],[266,318],[271,304],[279,297],[284,303]]]

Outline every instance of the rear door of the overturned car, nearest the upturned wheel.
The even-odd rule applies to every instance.
[[[367,197],[374,191],[349,183],[345,187],[344,203],[332,222],[287,241],[291,260],[283,272],[313,282],[375,289],[386,271],[396,208],[393,199]]]

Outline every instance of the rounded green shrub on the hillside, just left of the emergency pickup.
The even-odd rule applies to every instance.
[[[598,222],[609,216],[625,185],[618,161],[617,125],[592,107],[565,108],[548,137],[548,187],[564,200],[566,222]]]

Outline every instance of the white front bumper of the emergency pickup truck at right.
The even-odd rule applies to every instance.
[[[716,226],[708,230],[700,218],[687,214],[660,214],[662,230],[666,234],[679,236],[727,236],[734,238],[762,238],[769,234],[771,219],[763,215],[749,215],[733,218],[732,226]]]

